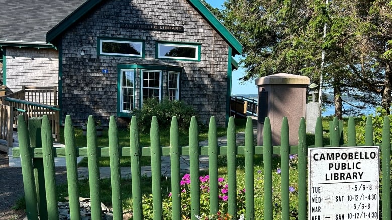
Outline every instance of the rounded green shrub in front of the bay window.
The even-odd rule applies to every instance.
[[[178,127],[185,130],[189,129],[192,116],[197,115],[193,107],[185,102],[167,98],[162,101],[157,99],[144,100],[143,107],[140,110],[133,111],[133,114],[137,117],[139,131],[141,132],[150,130],[153,116],[157,117],[161,129],[169,128],[172,118],[176,116]]]

